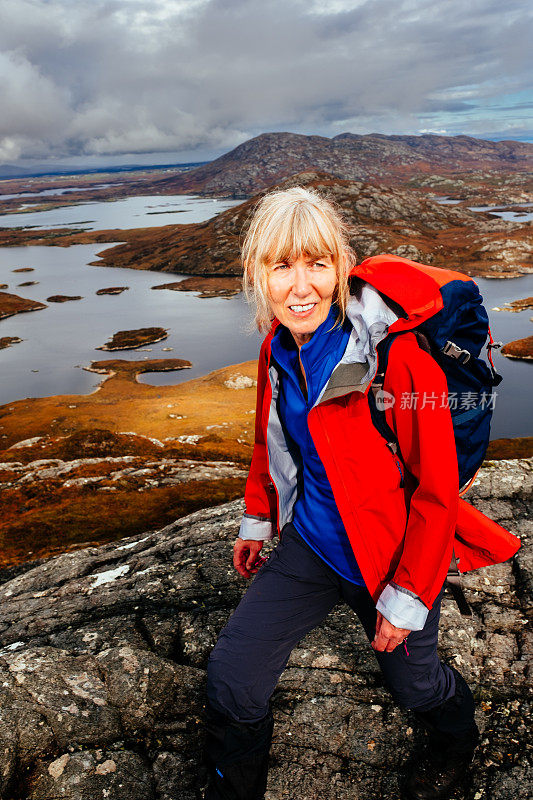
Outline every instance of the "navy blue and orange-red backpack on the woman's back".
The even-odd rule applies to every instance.
[[[408,267],[406,278],[410,281],[416,280],[418,272],[421,280],[427,280],[428,272],[436,271],[435,267],[398,257],[394,257],[394,262],[400,262],[400,268]],[[458,279],[458,273],[451,270],[439,269],[438,272],[442,308],[409,330],[416,335],[419,346],[430,353],[446,375],[457,449],[459,487],[460,493],[464,493],[475,478],[488,447],[494,410],[493,387],[502,380],[494,368],[491,351],[501,347],[502,343],[494,342],[492,338],[488,314],[482,305],[483,298],[477,284],[463,275]],[[364,280],[372,285],[371,275],[365,274]],[[396,313],[406,316],[403,309],[382,291],[382,281],[378,291]],[[383,396],[383,382],[391,345],[402,335],[403,332],[388,334],[378,344],[378,370],[372,381],[372,391],[368,394],[372,422],[400,458],[398,441],[385,418],[387,402]],[[481,357],[485,344],[488,364]]]

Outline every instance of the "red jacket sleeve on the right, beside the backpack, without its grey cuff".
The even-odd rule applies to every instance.
[[[413,487],[392,580],[431,608],[450,565],[459,498],[448,385],[436,361],[407,333],[391,345],[383,388],[394,397],[386,418]]]

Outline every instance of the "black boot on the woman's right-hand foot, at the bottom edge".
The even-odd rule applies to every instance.
[[[428,753],[414,765],[402,791],[402,800],[445,800],[469,771],[473,752],[449,758]]]

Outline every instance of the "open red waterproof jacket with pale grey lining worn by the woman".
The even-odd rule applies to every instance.
[[[394,260],[379,258],[388,259],[387,263]],[[372,260],[356,268],[356,274],[364,275],[365,264]],[[459,498],[451,415],[441,402],[447,397],[446,377],[410,333],[392,344],[384,384],[394,398],[386,409],[387,422],[414,477],[407,476],[405,487],[401,486],[401,465],[370,417],[367,394],[375,374],[375,345],[387,327],[390,331],[414,327],[435,313],[438,280],[429,281],[424,296],[412,298],[410,305],[403,285],[401,293],[407,320],[391,316],[390,308],[368,284],[360,300],[350,301],[348,317],[359,342],[365,343],[366,337],[366,361],[346,364],[337,385],[332,373],[333,385],[328,384],[309,412],[308,425],[374,600],[392,583],[431,608],[452,550],[459,569],[466,572],[510,558],[520,542]],[[396,299],[394,294],[388,296]],[[290,519],[296,498],[295,468],[276,412],[277,372],[270,362],[270,341],[277,324],[276,320],[259,356],[255,447],[245,492],[243,538],[271,538],[267,528],[274,520],[279,532]],[[381,333],[374,339],[376,328]]]

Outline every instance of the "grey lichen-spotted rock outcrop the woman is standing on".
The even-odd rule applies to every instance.
[[[521,535],[512,563],[444,601],[440,650],[474,687],[482,743],[467,800],[526,800],[533,461],[488,462],[469,498]],[[5,570],[1,796],[196,800],[205,667],[246,583],[231,567],[241,501],[159,531]],[[271,545],[270,545],[271,546]],[[273,697],[268,800],[397,800],[420,744],[346,607],[293,651]]]

